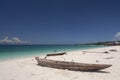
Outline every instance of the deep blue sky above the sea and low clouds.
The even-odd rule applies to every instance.
[[[113,40],[119,0],[1,0],[0,40],[74,44]]]

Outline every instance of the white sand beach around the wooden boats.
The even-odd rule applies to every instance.
[[[109,53],[102,53],[105,51]],[[48,59],[112,66],[98,72],[70,71],[38,66],[32,57],[1,61],[0,80],[120,80],[120,46],[71,51],[67,55],[50,56]]]

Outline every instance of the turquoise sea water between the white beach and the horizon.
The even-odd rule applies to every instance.
[[[41,54],[99,48],[96,45],[0,45],[0,61]]]

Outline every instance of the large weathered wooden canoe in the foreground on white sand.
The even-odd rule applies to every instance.
[[[108,68],[112,65],[110,64],[85,64],[85,63],[76,63],[76,62],[67,62],[67,61],[57,61],[49,59],[41,59],[35,57],[38,62],[38,65],[57,68],[57,69],[68,69],[74,71],[97,71],[101,69]]]

